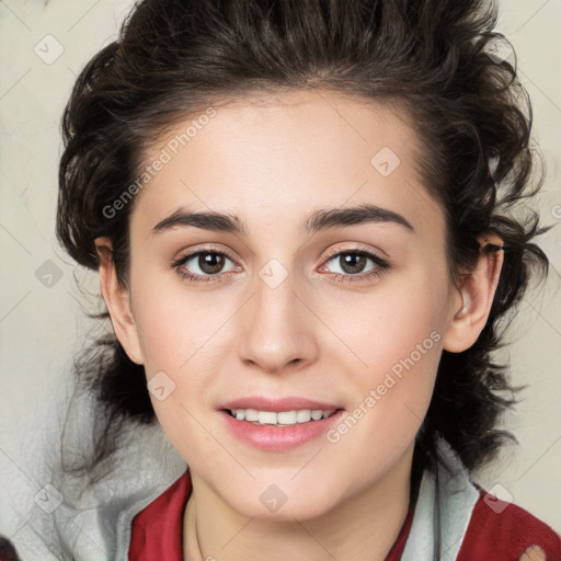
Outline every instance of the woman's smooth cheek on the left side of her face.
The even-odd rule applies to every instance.
[[[137,278],[135,321],[158,421],[184,458],[191,460],[198,450],[197,461],[210,461],[206,457],[214,447],[202,427],[201,411],[214,404],[208,390],[225,359],[217,346],[224,335],[220,327],[236,307],[210,291],[188,294],[175,280],[163,286],[156,275]]]

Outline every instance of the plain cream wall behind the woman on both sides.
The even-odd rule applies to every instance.
[[[0,0],[0,533],[15,535],[48,481],[41,461],[50,411],[92,323],[98,275],[76,267],[55,239],[60,116],[83,65],[113,41],[131,0]],[[561,0],[501,0],[499,31],[512,42],[535,111],[547,165],[543,224],[561,222]],[[551,260],[510,331],[512,380],[527,385],[505,420],[508,447],[480,481],[561,533],[561,229],[539,241]],[[92,291],[83,300],[73,276]],[[89,306],[89,307],[88,307]],[[38,507],[38,506],[37,506]],[[26,560],[24,560],[26,561]]]

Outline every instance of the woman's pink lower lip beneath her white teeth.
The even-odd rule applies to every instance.
[[[222,415],[226,426],[240,440],[262,450],[283,451],[302,446],[323,435],[331,426],[339,423],[343,412],[340,409],[328,419],[286,426],[254,425],[234,419],[226,411],[219,413]]]

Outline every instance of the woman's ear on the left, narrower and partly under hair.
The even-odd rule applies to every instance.
[[[108,238],[96,238],[100,257],[100,288],[111,316],[113,330],[125,353],[136,364],[144,364],[138,331],[130,307],[130,295],[117,280],[113,249]]]

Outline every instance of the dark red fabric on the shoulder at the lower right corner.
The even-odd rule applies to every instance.
[[[552,528],[515,504],[479,493],[458,561],[561,561],[561,538]]]

